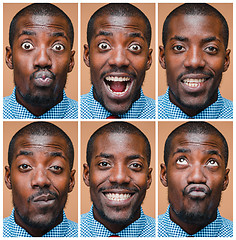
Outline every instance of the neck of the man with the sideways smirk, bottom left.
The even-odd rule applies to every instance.
[[[52,230],[54,227],[56,227],[62,222],[63,213],[61,213],[56,219],[56,221],[54,222],[54,224],[50,225],[49,227],[41,227],[41,226],[32,227],[30,224],[25,223],[16,211],[15,211],[14,217],[15,217],[16,224],[24,228],[32,237],[42,237],[43,235],[45,235],[47,232],[49,232],[50,230]]]

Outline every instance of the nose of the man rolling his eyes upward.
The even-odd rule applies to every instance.
[[[204,166],[193,165],[188,174],[188,184],[190,183],[206,183],[206,176],[204,174]]]

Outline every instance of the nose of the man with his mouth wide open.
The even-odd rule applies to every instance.
[[[122,46],[117,46],[110,52],[108,63],[110,66],[116,66],[118,68],[127,67],[129,65],[129,59],[127,56],[127,50]]]

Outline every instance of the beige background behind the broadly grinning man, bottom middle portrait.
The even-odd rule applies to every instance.
[[[86,213],[90,210],[91,201],[89,188],[83,182],[83,164],[86,162],[86,147],[90,136],[101,126],[108,123],[103,122],[81,122],[81,213]],[[143,211],[151,217],[155,217],[155,123],[154,122],[130,122],[138,127],[148,138],[151,145],[151,164],[152,184],[147,190],[146,197],[143,202]]]

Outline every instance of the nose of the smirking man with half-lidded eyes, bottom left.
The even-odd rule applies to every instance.
[[[45,168],[40,167],[34,170],[31,185],[32,188],[45,188],[51,185]]]

